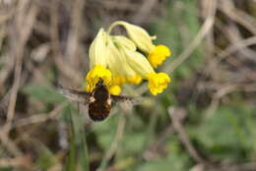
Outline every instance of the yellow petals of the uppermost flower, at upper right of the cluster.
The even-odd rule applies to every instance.
[[[157,45],[155,48],[149,53],[148,59],[151,65],[154,68],[157,68],[166,57],[170,56],[170,50],[165,45]]]

